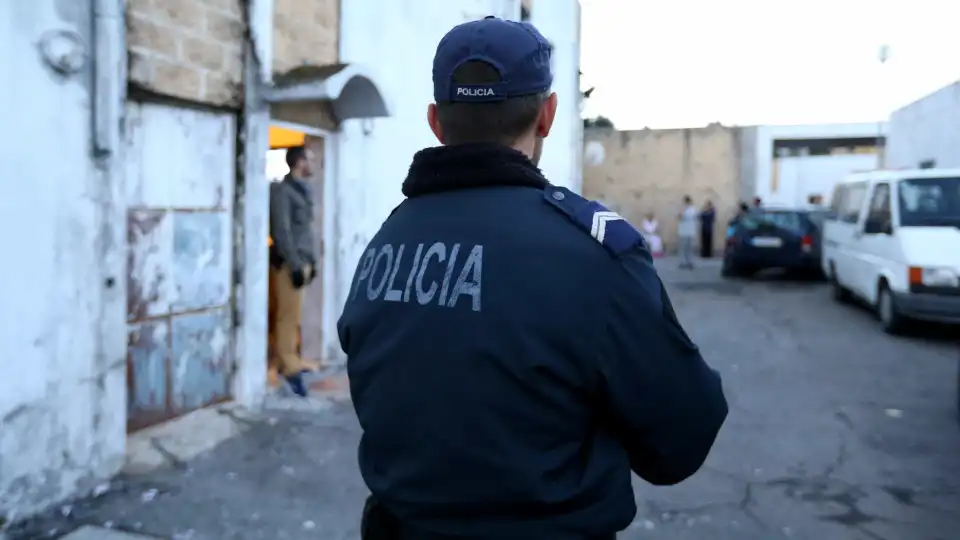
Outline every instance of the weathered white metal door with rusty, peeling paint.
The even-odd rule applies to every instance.
[[[129,430],[229,397],[236,117],[130,104]]]

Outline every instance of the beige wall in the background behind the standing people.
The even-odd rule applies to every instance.
[[[653,212],[668,251],[677,246],[677,214],[683,196],[690,195],[698,207],[709,199],[717,207],[714,251],[718,252],[726,222],[739,203],[739,139],[736,128],[718,125],[702,129],[587,130],[583,193],[620,212],[637,227],[647,213]],[[602,159],[598,159],[601,154]]]

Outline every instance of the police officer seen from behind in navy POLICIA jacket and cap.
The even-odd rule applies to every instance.
[[[492,17],[437,48],[442,146],[414,156],[338,323],[367,538],[612,539],[631,470],[681,482],[727,415],[640,234],[537,168],[550,54]]]

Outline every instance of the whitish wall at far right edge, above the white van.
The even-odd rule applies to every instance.
[[[894,111],[887,152],[891,168],[960,167],[960,81]]]

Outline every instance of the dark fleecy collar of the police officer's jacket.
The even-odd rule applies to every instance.
[[[494,186],[545,189],[550,183],[522,152],[497,144],[460,144],[426,148],[413,156],[403,194]]]

